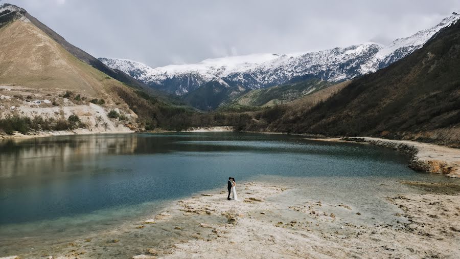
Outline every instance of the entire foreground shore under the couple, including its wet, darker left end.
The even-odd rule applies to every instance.
[[[364,220],[375,212],[349,206],[345,198],[343,203],[311,200],[295,188],[249,182],[238,184],[240,201],[227,201],[226,191],[205,191],[124,227],[57,241],[54,248],[36,247],[33,254],[106,258],[122,250],[132,258],[456,258],[460,186],[403,184],[430,189],[382,197],[394,206],[384,212],[398,219],[391,224]],[[149,239],[164,241],[155,246]],[[133,249],[135,240],[144,246]]]

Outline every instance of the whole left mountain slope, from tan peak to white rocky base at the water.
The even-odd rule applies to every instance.
[[[128,87],[83,62],[54,39],[60,36],[51,37],[26,14],[0,6],[0,135],[176,128],[193,114],[191,107]]]

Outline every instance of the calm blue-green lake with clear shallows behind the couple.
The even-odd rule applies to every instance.
[[[171,200],[225,190],[228,176],[237,182],[292,185],[311,199],[345,200],[375,218],[389,206],[384,197],[411,191],[399,180],[452,181],[415,172],[407,167],[407,159],[372,145],[246,133],[4,140],[0,245],[8,253],[9,242],[25,236],[37,245],[34,237],[69,238],[104,230],[157,212]]]

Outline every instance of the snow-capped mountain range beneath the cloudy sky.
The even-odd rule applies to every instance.
[[[460,14],[452,13],[440,24],[396,39],[388,46],[370,42],[318,52],[232,56],[159,68],[127,59],[99,59],[110,68],[119,69],[152,87],[177,95],[193,91],[213,78],[219,78],[229,87],[243,85],[249,89],[270,87],[304,75],[337,82],[387,67],[420,49],[432,36],[456,23],[459,18]]]

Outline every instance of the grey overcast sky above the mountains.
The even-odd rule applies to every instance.
[[[9,0],[95,57],[151,67],[251,53],[388,44],[460,11],[458,0]]]

